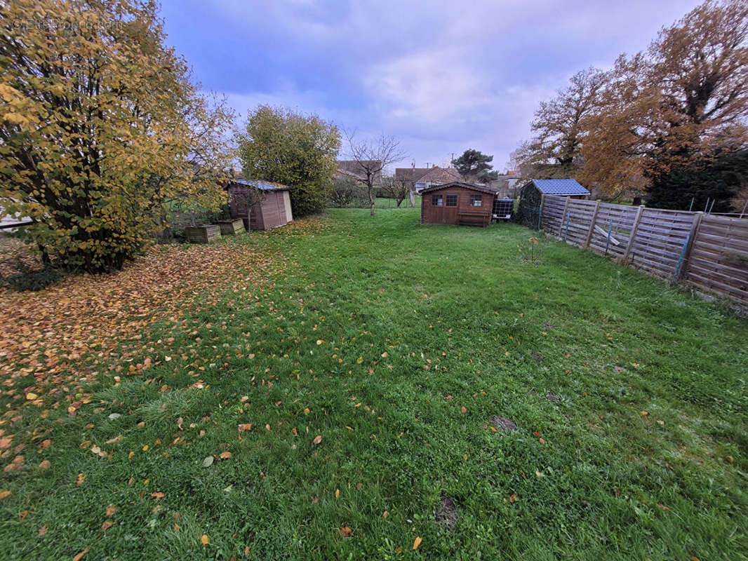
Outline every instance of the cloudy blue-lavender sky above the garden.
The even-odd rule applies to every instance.
[[[162,0],[167,42],[244,117],[259,103],[402,141],[402,165],[475,148],[503,171],[538,102],[645,49],[693,0]],[[342,156],[345,156],[344,154]]]

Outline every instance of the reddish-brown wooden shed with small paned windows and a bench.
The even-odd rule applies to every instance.
[[[453,181],[421,191],[421,224],[488,226],[497,190]]]

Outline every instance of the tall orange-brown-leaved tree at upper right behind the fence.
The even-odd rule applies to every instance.
[[[586,184],[656,191],[672,170],[708,166],[748,141],[748,2],[708,0],[621,55],[584,124]],[[663,183],[664,184],[664,183]],[[671,187],[672,188],[672,187]]]

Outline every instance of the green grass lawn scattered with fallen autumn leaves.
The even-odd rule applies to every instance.
[[[144,331],[75,416],[16,419],[0,557],[748,559],[748,322],[561,242],[523,259],[524,227],[419,218],[222,241],[286,267]]]

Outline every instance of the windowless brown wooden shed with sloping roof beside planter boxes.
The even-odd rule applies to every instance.
[[[247,230],[270,230],[293,220],[290,187],[269,181],[233,179],[226,190],[231,194],[231,218],[242,218]]]

